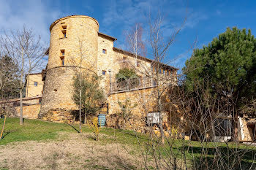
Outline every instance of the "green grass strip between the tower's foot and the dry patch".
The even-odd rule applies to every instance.
[[[65,123],[51,123],[42,120],[29,120],[24,119],[23,125],[19,124],[19,118],[7,117],[3,139],[1,144],[8,144],[10,142],[23,142],[23,141],[42,141],[58,139],[59,132],[69,132],[78,134],[79,125],[68,125]],[[3,125],[3,119],[0,120],[0,129]],[[83,133],[90,133],[87,126],[82,126]],[[104,139],[100,142],[121,142],[126,144],[136,144],[137,139],[133,131],[125,131],[112,128],[101,128],[100,134],[105,134]],[[113,138],[116,134],[116,137]],[[143,136],[143,135],[140,135]],[[146,137],[146,136],[144,136]]]

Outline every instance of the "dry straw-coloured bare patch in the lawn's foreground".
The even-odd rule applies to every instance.
[[[47,142],[16,142],[1,146],[0,169],[135,169],[120,144],[99,144],[86,134]],[[87,134],[88,135],[88,134]]]

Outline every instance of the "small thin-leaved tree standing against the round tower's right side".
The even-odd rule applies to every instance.
[[[78,36],[78,55],[73,56],[67,63],[71,65],[74,72],[74,94],[73,100],[79,107],[79,129],[81,132],[82,125],[82,109],[84,115],[84,123],[87,122],[88,112],[97,112],[99,104],[96,101],[102,101],[103,93],[99,90],[99,77],[94,72],[96,63],[87,64],[89,61],[89,50],[86,46],[86,40]],[[79,91],[79,96],[76,94]],[[96,103],[95,103],[96,102]]]

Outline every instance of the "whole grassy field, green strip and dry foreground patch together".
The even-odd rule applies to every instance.
[[[140,169],[143,166],[140,144],[148,142],[148,136],[101,128],[99,141],[95,141],[88,127],[83,126],[82,134],[77,129],[78,125],[41,120],[24,120],[24,125],[19,125],[18,118],[7,118],[4,138],[0,141],[0,169]],[[200,156],[200,142],[185,145],[193,151],[193,154],[187,154],[188,159]],[[173,152],[177,158],[182,156],[181,146],[180,140],[174,141]],[[244,145],[240,149],[243,147],[248,149]],[[167,156],[168,148],[162,146],[159,152]],[[214,144],[208,143],[207,148],[208,158],[213,157]],[[227,150],[222,143],[219,148],[223,152]],[[255,153],[254,149],[249,150],[242,163],[252,163]],[[154,169],[154,160],[148,160],[148,167]]]

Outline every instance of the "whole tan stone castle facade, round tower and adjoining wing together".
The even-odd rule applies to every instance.
[[[132,96],[132,102],[137,102],[135,96],[148,96],[151,93],[155,84],[146,74],[154,70],[154,61],[143,56],[135,58],[133,53],[114,47],[115,41],[116,38],[100,33],[97,20],[88,16],[67,16],[51,24],[50,47],[46,52],[49,56],[48,65],[42,72],[44,85],[39,118],[54,115],[51,110],[59,114],[58,110],[71,112],[78,109],[72,101],[72,82],[79,68],[86,70],[89,76],[97,74],[100,77],[99,86],[107,97],[105,106],[108,108],[105,113],[108,115],[120,112],[118,101],[124,101],[127,96]],[[136,70],[140,76],[140,87],[133,90],[116,88],[116,74],[126,66]],[[163,66],[161,74],[175,80],[177,69],[164,64]],[[27,89],[27,93],[33,90],[30,86]],[[154,112],[150,102],[147,104],[147,112]],[[139,110],[136,107],[132,112],[141,116],[138,114]]]

